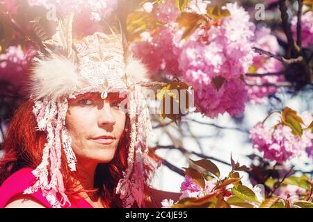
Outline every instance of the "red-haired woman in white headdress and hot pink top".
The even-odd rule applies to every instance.
[[[30,99],[3,144],[0,207],[159,207],[177,199],[149,187],[156,163],[138,85],[145,67],[125,56],[121,35],[72,40],[71,26],[72,16],[58,21],[35,59]]]

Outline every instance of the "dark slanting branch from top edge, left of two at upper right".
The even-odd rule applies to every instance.
[[[284,29],[284,34],[287,37],[288,41],[288,51],[287,51],[287,58],[291,58],[291,53],[296,52],[294,47],[294,37],[292,37],[291,28],[288,22],[288,13],[287,13],[287,6],[286,0],[279,0],[278,2],[280,6],[280,17],[282,19],[282,28]]]

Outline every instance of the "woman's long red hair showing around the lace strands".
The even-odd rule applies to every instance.
[[[125,129],[129,129],[129,117],[126,118]],[[37,121],[33,114],[33,101],[26,101],[16,112],[10,122],[3,142],[4,155],[0,161],[0,185],[11,174],[23,167],[35,169],[42,160],[42,151],[46,143],[45,132],[36,130]],[[102,198],[104,207],[122,207],[120,197],[115,194],[115,187],[127,169],[129,133],[124,131],[113,160],[106,164],[98,164],[95,171],[94,185]],[[62,153],[61,173],[63,174],[67,194],[77,193],[75,181],[81,181],[77,172],[70,171],[65,153]],[[79,171],[79,169],[77,169]],[[148,181],[150,167],[145,167],[145,181]],[[76,185],[75,185],[76,184]],[[134,206],[137,207],[137,206]]]

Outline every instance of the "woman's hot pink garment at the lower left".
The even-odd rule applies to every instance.
[[[8,177],[0,187],[0,208],[6,207],[9,201],[17,195],[23,194],[23,191],[34,184],[35,176],[31,172],[31,168],[23,168],[13,173]],[[34,194],[28,194],[31,198],[35,199],[41,205],[51,208],[51,205],[47,199],[42,195],[42,192],[38,190]],[[62,208],[93,208],[83,198],[74,198],[69,196],[71,205],[66,204]]]

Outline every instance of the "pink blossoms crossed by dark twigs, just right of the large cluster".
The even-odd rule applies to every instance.
[[[275,35],[271,34],[271,29],[262,27],[258,28],[255,32],[255,47],[259,49],[264,49],[271,53],[278,53],[280,47],[278,40]],[[259,86],[264,83],[279,83],[284,80],[283,75],[274,75],[274,73],[279,73],[282,71],[283,65],[280,61],[274,58],[268,58],[264,55],[259,55],[255,53],[253,58],[253,65],[251,67],[255,74],[269,74],[273,75],[262,76],[262,77],[246,77],[249,85],[246,86],[248,89],[249,101],[252,104],[262,103],[264,97],[277,92],[278,87],[275,86]],[[253,74],[253,73],[252,73]]]

